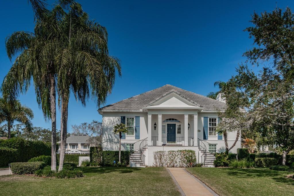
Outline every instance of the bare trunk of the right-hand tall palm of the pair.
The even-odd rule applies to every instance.
[[[67,135],[67,118],[68,118],[68,102],[62,101],[61,103],[61,143],[60,143],[60,158],[58,171],[63,169],[66,135]]]

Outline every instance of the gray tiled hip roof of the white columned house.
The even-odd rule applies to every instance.
[[[201,105],[201,107],[204,108],[203,111],[215,111],[216,109],[223,109],[226,107],[226,104],[221,101],[166,84],[152,91],[106,105],[99,108],[99,110],[141,110],[143,107],[148,105],[148,103],[153,102],[158,97],[163,96],[165,93],[170,91],[176,91],[176,93],[183,95],[184,98],[191,99],[194,103]]]

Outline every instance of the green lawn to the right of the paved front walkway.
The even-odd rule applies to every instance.
[[[219,195],[293,195],[291,172],[270,169],[187,168]]]

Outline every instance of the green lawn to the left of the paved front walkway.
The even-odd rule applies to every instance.
[[[82,167],[85,177],[0,176],[1,195],[180,195],[165,168]]]

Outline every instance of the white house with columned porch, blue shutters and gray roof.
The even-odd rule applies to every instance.
[[[222,135],[216,132],[217,110],[226,107],[225,99],[217,100],[165,85],[152,91],[107,105],[98,112],[103,116],[103,150],[118,150],[119,136],[113,126],[125,123],[128,129],[122,136],[122,150],[131,150],[131,166],[153,165],[153,152],[158,150],[196,151],[197,161],[213,163],[215,152],[225,151]],[[228,133],[228,145],[236,138]],[[230,150],[237,153],[239,139]]]

